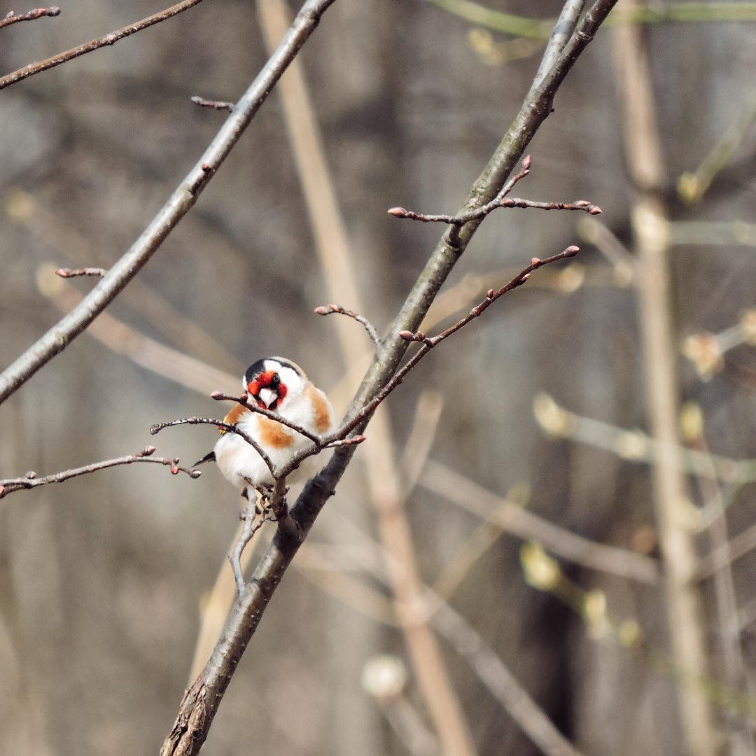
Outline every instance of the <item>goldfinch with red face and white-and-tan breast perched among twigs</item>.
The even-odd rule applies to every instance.
[[[315,435],[328,435],[336,429],[333,405],[296,362],[281,357],[257,360],[246,369],[242,387],[259,407],[279,414]],[[287,463],[294,454],[312,443],[296,430],[250,411],[242,404],[232,407],[223,422],[237,426],[253,438],[276,467]],[[248,490],[250,484],[256,491],[273,485],[271,471],[257,451],[240,435],[225,429],[220,432],[221,438],[215,448],[195,466],[214,461],[225,479],[243,497],[253,496],[253,491]]]

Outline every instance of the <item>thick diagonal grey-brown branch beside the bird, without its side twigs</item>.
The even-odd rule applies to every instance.
[[[460,212],[469,212],[490,202],[500,193],[507,176],[524,153],[528,142],[551,112],[554,95],[581,52],[593,39],[601,23],[614,7],[616,0],[597,0],[585,14],[570,41],[543,81],[528,93],[509,132],[497,148],[484,172],[473,184]],[[397,314],[389,336],[376,352],[367,374],[352,401],[347,417],[353,417],[361,407],[378,395],[395,373],[408,342],[398,336],[400,331],[417,331],[435,295],[466,249],[480,221],[472,221],[462,228],[451,227],[433,250],[426,267]],[[362,429],[369,417],[361,418]],[[271,545],[257,565],[253,578],[231,609],[222,638],[209,661],[184,695],[178,717],[166,738],[161,756],[169,754],[197,754],[207,737],[218,704],[237,668],[247,643],[256,631],[274,590],[290,565],[302,539],[310,530],[324,503],[333,494],[349,461],[353,447],[339,448],[332,459],[305,485],[291,517],[297,522],[296,536],[277,531]]]

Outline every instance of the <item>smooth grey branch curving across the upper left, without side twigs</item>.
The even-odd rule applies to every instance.
[[[175,5],[168,11],[163,11],[162,14],[150,17],[152,19],[150,23],[164,20],[170,15],[175,15],[192,5],[197,5],[197,2],[200,2],[200,0],[187,0],[187,2]],[[197,202],[200,192],[212,179],[215,171],[221,166],[263,102],[268,98],[283,71],[296,57],[315,26],[318,25],[321,14],[332,3],[333,0],[308,0],[308,2],[305,2],[302,11],[281,41],[276,53],[271,56],[255,81],[244,93],[237,107],[234,108],[234,112],[228,116],[225,124],[218,131],[218,135],[209,144],[200,160],[197,161],[131,249],[110,268],[101,283],[82,300],[79,307],[70,312],[48,333],[45,333],[45,336],[42,336],[36,344],[27,349],[0,375],[0,402],[5,401],[40,367],[65,349],[76,336],[79,336],[79,333],[82,333],[82,330],[85,330],[91,321],[118,296],[123,287],[129,283],[129,280],[153,256],[153,253],[175,228],[175,225]],[[138,24],[135,26],[138,26]],[[132,27],[127,28],[131,29]],[[134,31],[136,30],[138,29],[134,29]],[[59,62],[64,61],[60,60]],[[2,79],[0,79],[0,84],[2,84]]]

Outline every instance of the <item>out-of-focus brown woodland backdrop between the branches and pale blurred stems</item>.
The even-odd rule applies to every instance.
[[[562,3],[485,5],[547,19]],[[138,0],[61,7],[55,19],[2,30],[3,70],[162,8]],[[531,175],[513,194],[586,197],[602,206],[603,225],[631,249],[635,200],[622,141],[615,35],[602,29],[572,70],[556,112],[528,148]],[[674,348],[689,336],[728,329],[725,346],[732,346],[717,360],[723,342],[688,342],[699,357],[702,349],[714,349],[714,360],[707,373],[703,358],[697,364],[680,358],[680,401],[700,408],[712,452],[754,457],[753,326],[738,325],[754,307],[756,274],[756,233],[748,225],[754,222],[756,141],[747,111],[754,97],[754,23],[652,23],[642,35],[662,141],[662,197],[671,239],[685,242],[669,249]],[[302,51],[364,314],[381,331],[442,231],[395,220],[386,209],[401,204],[454,212],[459,206],[538,67],[538,43],[517,46],[511,39],[425,0],[339,0]],[[4,367],[54,324],[60,307],[73,306],[74,293],[95,283],[60,281],[51,271],[107,268],[200,156],[225,116],[194,106],[191,95],[238,98],[266,57],[256,4],[208,0],[0,92]],[[678,177],[695,170],[737,119],[743,128],[732,155],[702,202],[686,205],[676,192]],[[534,274],[404,382],[388,402],[395,454],[401,459],[421,392],[433,390],[438,394],[426,395],[426,403],[440,396],[443,405],[429,464],[499,496],[516,487],[515,499],[557,525],[655,558],[650,468],[622,457],[634,456],[627,445],[643,446],[643,439],[603,427],[593,431],[596,443],[608,448],[581,443],[581,422],[566,421],[543,396],[541,425],[561,418],[561,437],[545,435],[534,414],[534,398],[546,394],[581,417],[648,429],[638,299],[627,274],[632,259],[620,251],[612,262],[606,244],[602,253],[587,243],[584,237],[596,230],[586,218],[536,210],[501,210],[488,218],[445,287],[457,296],[442,324],[531,256],[546,257],[571,243],[584,251],[569,268]],[[339,290],[338,281],[329,283]],[[185,385],[204,380],[197,366],[187,369],[184,385],[160,375],[150,367],[169,371],[175,362],[158,352],[145,367],[144,355],[153,353],[134,333],[234,380],[256,358],[285,355],[323,389],[336,389],[348,373],[336,339],[338,316],[312,314],[328,299],[274,94],[195,209],[107,310],[119,322],[100,318],[99,340],[82,334],[0,407],[0,476],[28,469],[47,474],[153,442],[159,454],[183,463],[209,449],[215,435],[206,426],[169,429],[156,440],[147,431],[172,417],[218,417],[222,408],[207,392],[236,391],[236,384],[212,385],[203,395]],[[362,357],[355,354],[352,362]],[[333,395],[339,409],[359,378],[358,369]],[[700,433],[692,435],[700,441]],[[367,436],[370,443],[370,429]],[[352,530],[376,535],[362,452],[311,535],[310,555],[298,556],[302,564],[274,597],[222,703],[207,754],[435,752],[411,665],[401,704],[379,705],[361,683],[376,655],[406,663],[398,628],[368,616],[363,606],[386,589],[364,575],[367,547]],[[696,476],[689,484],[686,511],[699,523],[696,513],[714,494]],[[449,603],[562,733],[586,754],[688,752],[675,688],[705,686],[680,682],[684,671],[665,663],[661,584],[605,575],[557,556],[559,590],[538,590],[525,579],[522,540],[504,532],[484,547],[471,544],[472,534],[480,538],[482,520],[455,505],[454,485],[439,485],[448,495],[429,491],[421,474],[407,500],[423,580],[434,584],[449,565],[463,564]],[[732,494],[727,528],[739,534],[754,523],[754,488],[724,488],[726,497]],[[481,506],[490,503],[481,500]],[[218,572],[229,571],[225,557],[237,510],[216,470],[206,469],[195,482],[147,465],[0,502],[0,752],[156,752],[188,684],[203,601]],[[689,530],[701,555],[716,546],[709,530]],[[469,562],[460,550],[463,557],[472,554]],[[338,575],[354,580],[342,584]],[[568,578],[575,583],[569,590]],[[706,687],[711,692],[705,695],[714,705],[723,753],[743,743],[751,748],[754,700],[747,683],[756,668],[748,553],[734,562],[733,581],[741,611],[733,615],[730,608],[724,617],[714,582],[700,583],[709,671],[721,684]],[[363,595],[361,585],[370,593]],[[603,593],[590,594],[591,604],[584,590]],[[572,598],[565,602],[566,594]],[[723,635],[723,627],[733,634]],[[538,753],[467,662],[440,643],[479,753]],[[728,647],[741,654],[737,679],[728,678],[723,662]],[[737,705],[727,697],[728,686],[745,696]],[[733,745],[734,731],[746,733],[740,745]]]

